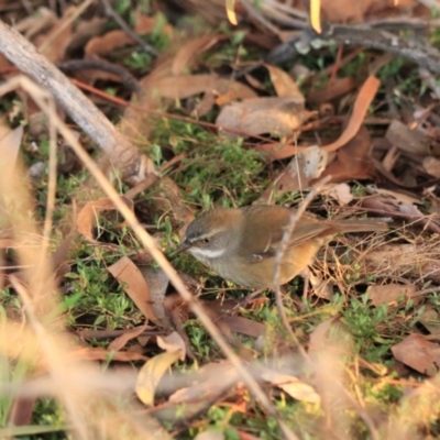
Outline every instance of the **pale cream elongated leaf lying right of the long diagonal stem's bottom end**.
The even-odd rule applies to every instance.
[[[264,381],[276,385],[297,400],[308,402],[310,404],[319,404],[321,402],[319,394],[312,386],[300,381],[298,377],[292,376],[290,374],[284,374],[275,370],[265,369],[262,373],[262,377]]]

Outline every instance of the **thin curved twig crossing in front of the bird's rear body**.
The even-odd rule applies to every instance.
[[[331,179],[331,176],[327,176],[324,177],[322,180],[319,180],[314,188],[311,189],[311,191],[307,195],[307,197],[304,199],[302,204],[300,205],[300,207],[297,210],[293,210],[292,215],[290,215],[290,219],[289,219],[289,223],[283,234],[283,240],[279,244],[279,249],[276,253],[275,256],[275,265],[274,265],[274,292],[275,292],[275,301],[276,301],[276,307],[278,309],[278,315],[279,318],[283,322],[283,326],[285,327],[285,329],[288,331],[288,333],[290,334],[290,337],[293,337],[294,339],[296,339],[295,333],[292,331],[290,324],[287,320],[287,316],[284,311],[284,305],[283,305],[283,297],[282,297],[282,289],[279,286],[279,268],[280,268],[280,264],[283,261],[283,256],[284,253],[286,252],[286,248],[288,244],[288,241],[290,240],[290,235],[295,230],[296,224],[298,223],[299,219],[301,218],[301,216],[306,212],[306,209],[308,208],[308,206],[311,204],[311,201],[314,200],[314,198],[316,197],[316,195],[322,189],[322,187],[329,183]]]

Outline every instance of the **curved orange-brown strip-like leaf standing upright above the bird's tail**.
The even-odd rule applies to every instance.
[[[345,127],[345,130],[338,140],[329,145],[323,146],[323,150],[328,152],[337,151],[350,142],[359,133],[366,112],[369,111],[369,107],[373,102],[380,85],[381,81],[375,76],[370,75],[369,78],[366,78],[358,94],[353,106],[353,112],[350,117],[349,123]]]

